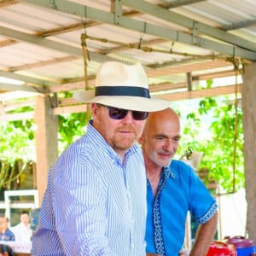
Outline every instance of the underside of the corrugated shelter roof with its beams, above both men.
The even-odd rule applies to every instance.
[[[256,61],[255,9],[254,0],[2,0],[0,120],[31,118],[8,113],[38,94],[55,114],[82,111],[73,92],[92,88],[110,60],[141,62],[151,93],[166,99],[233,93],[237,83],[201,82]]]

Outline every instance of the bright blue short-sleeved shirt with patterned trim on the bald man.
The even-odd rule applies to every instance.
[[[163,168],[155,198],[148,182],[147,203],[146,251],[156,253],[162,237],[166,256],[177,256],[183,247],[188,211],[198,224],[206,223],[217,211],[216,201],[204,183],[179,160]]]

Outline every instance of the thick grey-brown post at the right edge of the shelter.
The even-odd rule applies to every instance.
[[[247,232],[256,241],[256,63],[247,65],[242,85],[242,125],[247,199]]]

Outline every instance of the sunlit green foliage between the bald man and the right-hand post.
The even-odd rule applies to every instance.
[[[212,122],[208,130],[202,130],[202,119],[209,116]],[[187,115],[188,123],[183,131],[183,152],[188,148],[202,152],[199,169],[207,168],[210,177],[226,193],[245,185],[241,117],[241,108],[237,108],[236,113],[235,106],[227,100],[205,98],[199,103],[196,113]]]

